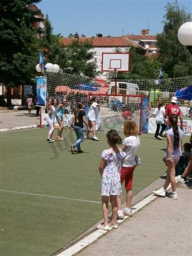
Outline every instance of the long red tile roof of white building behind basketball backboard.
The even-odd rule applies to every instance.
[[[79,37],[79,42],[85,42],[86,40],[89,40],[92,42],[92,45],[94,47],[137,47],[141,49],[145,49],[142,46],[140,46],[137,43],[132,42],[129,38],[124,37]],[[69,46],[73,40],[77,40],[77,38],[62,38],[61,41],[64,44],[64,46]]]

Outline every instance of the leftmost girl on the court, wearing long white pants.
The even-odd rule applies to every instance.
[[[47,104],[47,112],[48,112],[47,123],[50,126],[47,143],[51,143],[54,141],[51,139],[51,137],[54,132],[54,118],[55,118],[55,115],[57,115],[57,105],[58,105],[58,100],[54,98],[51,100],[51,104],[50,103]]]

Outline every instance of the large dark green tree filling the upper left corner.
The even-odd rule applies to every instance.
[[[1,0],[0,2],[0,83],[7,86],[7,105],[11,105],[11,86],[32,84],[35,75],[36,30],[39,12],[28,8],[41,0]]]

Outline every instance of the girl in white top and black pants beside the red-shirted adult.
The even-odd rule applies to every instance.
[[[156,117],[156,125],[157,125],[157,129],[155,132],[155,136],[154,136],[154,140],[156,140],[157,138],[159,140],[162,140],[163,138],[163,132],[166,129],[166,124],[165,124],[165,118],[164,118],[164,114],[165,114],[165,109],[163,108],[163,102],[158,103],[158,107],[155,109],[153,115],[149,116],[147,118],[147,120],[153,116]],[[161,132],[159,133],[160,130],[160,126],[162,126]]]

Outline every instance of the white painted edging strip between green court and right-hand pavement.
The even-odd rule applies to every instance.
[[[167,189],[169,189],[171,186],[169,186]],[[148,203],[152,202],[155,198],[157,198],[157,196],[154,196],[153,194],[149,195],[148,197],[144,198],[141,202],[139,202],[138,204],[135,204],[132,206],[132,208],[135,208],[135,211],[132,211],[133,213],[139,211],[140,209],[142,209],[142,207],[144,207],[145,205],[147,205]],[[123,220],[118,220],[118,223],[123,222],[124,220],[126,220],[127,218],[130,218],[129,216],[125,216],[125,218]],[[110,228],[110,230],[113,228]],[[75,253],[81,251],[84,247],[86,247],[87,245],[93,243],[96,239],[98,239],[100,236],[102,236],[103,234],[107,233],[108,231],[106,230],[94,230],[93,233],[91,233],[90,235],[84,237],[81,241],[77,242],[76,244],[74,244],[73,246],[69,247],[68,249],[66,249],[65,251],[62,251],[61,253],[57,254],[57,256],[72,256]]]

